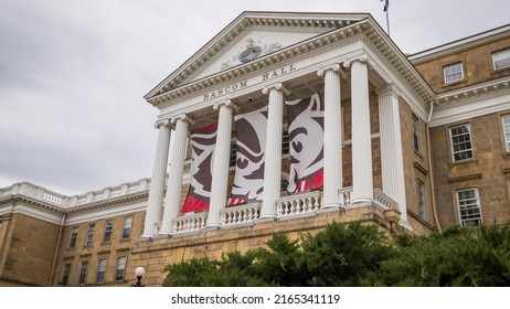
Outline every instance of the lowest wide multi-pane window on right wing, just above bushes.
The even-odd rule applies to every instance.
[[[457,203],[460,224],[466,227],[479,226],[481,224],[480,202],[478,189],[457,191]]]

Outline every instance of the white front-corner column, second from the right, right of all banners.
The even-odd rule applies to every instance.
[[[369,71],[366,61],[366,57],[360,56],[344,63],[344,66],[351,66],[351,203],[373,200],[372,138],[370,132]]]

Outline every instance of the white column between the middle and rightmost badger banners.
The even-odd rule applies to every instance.
[[[280,196],[284,94],[288,94],[288,90],[278,83],[264,87],[263,93],[269,94],[269,104],[264,154],[264,200],[261,219],[268,219],[276,216],[275,203]]]

